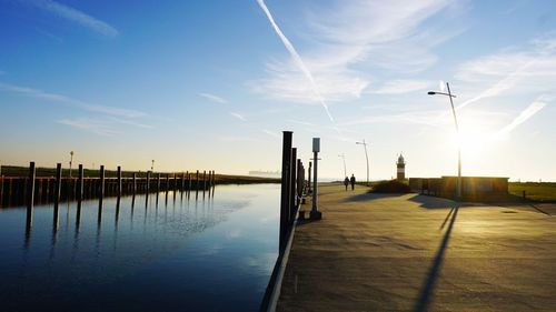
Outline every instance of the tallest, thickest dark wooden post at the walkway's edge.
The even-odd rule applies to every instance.
[[[281,191],[280,191],[280,234],[279,253],[282,254],[287,240],[287,215],[289,212],[289,163],[291,160],[291,131],[282,132],[282,154],[281,154]]]

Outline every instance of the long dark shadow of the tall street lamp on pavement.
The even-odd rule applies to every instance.
[[[440,269],[441,269],[443,261],[444,261],[444,253],[446,252],[446,248],[448,246],[451,229],[454,228],[454,223],[456,222],[458,210],[459,210],[459,207],[456,205],[453,208],[453,211],[454,211],[453,214],[450,211],[451,219],[450,219],[450,222],[448,224],[448,229],[446,230],[446,233],[444,234],[440,246],[438,248],[438,251],[436,252],[433,265],[428,270],[428,274],[426,276],[426,280],[423,283],[419,298],[415,304],[415,311],[427,311],[428,310],[430,296],[435,291],[436,281],[438,280],[438,274],[440,273]]]

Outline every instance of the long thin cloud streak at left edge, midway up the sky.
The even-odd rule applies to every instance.
[[[27,97],[32,97],[32,98],[37,98],[37,99],[41,99],[41,100],[47,100],[47,101],[51,101],[51,102],[58,102],[58,103],[71,105],[71,107],[87,110],[90,112],[98,112],[98,113],[103,113],[103,114],[109,114],[109,115],[115,115],[115,117],[138,118],[138,117],[147,115],[142,111],[90,104],[90,103],[87,103],[87,102],[83,102],[83,101],[80,101],[77,99],[72,99],[72,98],[69,98],[69,97],[66,97],[62,94],[46,92],[42,90],[29,88],[29,87],[14,85],[14,84],[9,84],[9,83],[3,83],[3,82],[0,82],[0,91],[19,93],[19,94],[23,94]]]

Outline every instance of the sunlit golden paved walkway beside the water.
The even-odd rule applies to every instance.
[[[320,191],[324,219],[296,230],[278,311],[556,311],[556,215]]]

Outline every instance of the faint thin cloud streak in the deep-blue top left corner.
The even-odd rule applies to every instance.
[[[119,33],[116,28],[107,22],[57,1],[28,0],[24,2],[108,37],[116,37]]]

